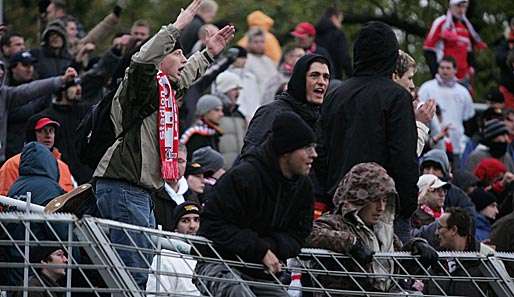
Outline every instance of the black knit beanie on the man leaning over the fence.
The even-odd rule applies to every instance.
[[[278,156],[316,141],[311,127],[293,112],[279,114],[273,121],[271,131],[271,145]]]

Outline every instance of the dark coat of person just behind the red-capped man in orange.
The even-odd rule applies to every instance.
[[[57,121],[61,126],[55,131],[55,147],[62,154],[61,160],[70,167],[71,174],[79,184],[88,182],[93,170],[80,163],[77,150],[77,126],[87,113],[89,107],[82,104],[59,105],[52,104],[40,114]]]

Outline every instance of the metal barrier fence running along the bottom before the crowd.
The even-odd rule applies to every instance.
[[[133,244],[113,244],[113,231]],[[132,240],[135,234],[144,236],[144,247]],[[67,263],[34,258],[45,248],[62,249]],[[127,253],[138,255],[143,267],[125,265]],[[207,264],[220,265],[229,277],[195,272],[195,266]],[[266,274],[263,281],[249,276],[262,275],[262,264],[223,260],[204,238],[92,217],[0,213],[0,291],[8,296],[216,296],[209,288],[217,282],[236,284],[236,296],[268,296],[254,292],[275,288],[284,296],[304,297],[503,297],[514,296],[513,267],[514,254],[508,253],[440,252],[431,268],[406,252],[379,253],[363,267],[345,255],[303,249],[284,263],[280,276]],[[137,285],[138,273],[148,277],[146,286]],[[49,275],[60,279],[52,283]]]

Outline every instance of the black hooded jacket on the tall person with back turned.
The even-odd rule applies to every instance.
[[[411,95],[391,80],[398,41],[389,26],[366,24],[354,46],[353,76],[326,98],[316,174],[327,192],[354,165],[377,162],[394,179],[400,214],[417,206],[417,131]]]

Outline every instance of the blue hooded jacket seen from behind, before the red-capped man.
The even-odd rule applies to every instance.
[[[19,170],[20,176],[9,189],[9,197],[31,192],[31,202],[44,206],[54,197],[64,194],[59,186],[57,159],[46,146],[28,143],[21,152]]]

